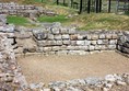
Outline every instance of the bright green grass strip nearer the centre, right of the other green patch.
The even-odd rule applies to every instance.
[[[39,22],[67,22],[68,19],[64,16],[64,15],[56,15],[56,16],[47,16],[47,15],[43,15],[43,16],[39,16],[37,18],[37,20]]]

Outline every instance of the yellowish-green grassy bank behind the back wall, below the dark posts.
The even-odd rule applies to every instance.
[[[91,13],[75,16],[71,23],[77,23],[80,30],[129,30],[129,16],[114,13]]]

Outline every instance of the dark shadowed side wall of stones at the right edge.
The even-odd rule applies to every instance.
[[[129,32],[124,32],[118,38],[117,49],[124,53],[126,56],[129,56]]]

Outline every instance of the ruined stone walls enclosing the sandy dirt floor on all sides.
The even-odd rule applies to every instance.
[[[2,26],[2,25],[1,25]],[[13,29],[12,29],[13,27]],[[129,73],[107,75],[69,81],[28,84],[16,62],[17,55],[87,55],[103,50],[117,50],[129,56],[128,31],[77,31],[52,23],[37,29],[23,26],[0,31],[0,89],[7,91],[109,91],[114,86],[128,86]],[[3,30],[3,31],[2,31]],[[13,30],[13,31],[12,31]],[[31,44],[27,44],[30,43]],[[33,43],[33,44],[32,44]]]

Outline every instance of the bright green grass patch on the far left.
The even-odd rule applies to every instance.
[[[7,18],[8,23],[13,23],[15,25],[26,25],[28,23],[26,18],[22,18],[22,16],[12,16],[9,15]]]

